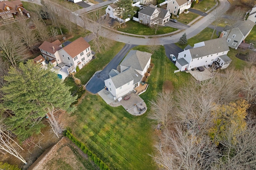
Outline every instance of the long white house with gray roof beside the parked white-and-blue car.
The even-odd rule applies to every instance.
[[[199,66],[211,66],[212,64],[224,69],[232,61],[227,56],[229,47],[225,38],[203,41],[194,44],[193,48],[187,46],[185,49],[178,54],[178,60],[175,64],[180,71],[196,69]]]

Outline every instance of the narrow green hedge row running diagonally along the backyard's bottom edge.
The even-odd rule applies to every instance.
[[[64,135],[74,142],[85,154],[87,154],[101,170],[110,170],[108,166],[96,156],[96,154],[92,153],[92,151],[90,151],[82,142],[78,141],[69,130],[64,131]]]

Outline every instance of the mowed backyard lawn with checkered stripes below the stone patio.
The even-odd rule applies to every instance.
[[[148,155],[154,150],[154,131],[146,115],[135,117],[87,93],[68,119],[72,133],[111,169],[154,170]]]

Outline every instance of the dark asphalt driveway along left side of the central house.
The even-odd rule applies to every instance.
[[[109,78],[108,73],[111,71],[111,69],[116,69],[116,67],[119,65],[119,63],[122,61],[122,59],[125,57],[126,53],[136,45],[133,44],[126,44],[124,47],[119,51],[119,53],[108,63],[108,65],[100,72],[97,72],[94,74],[92,79],[88,82],[86,85],[86,90],[89,92],[96,94],[100,90],[104,88],[104,80]]]

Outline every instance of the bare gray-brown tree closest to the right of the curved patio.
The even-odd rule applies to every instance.
[[[175,106],[173,96],[173,91],[169,90],[159,93],[156,101],[150,102],[151,112],[148,119],[152,119],[161,127],[166,128],[168,122],[171,121],[171,113]]]

